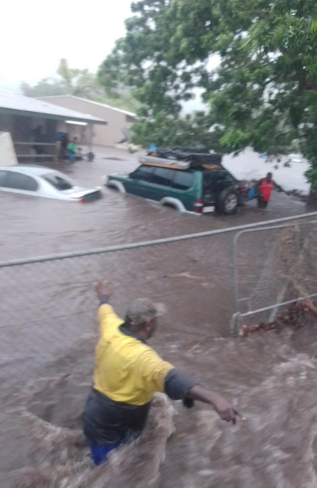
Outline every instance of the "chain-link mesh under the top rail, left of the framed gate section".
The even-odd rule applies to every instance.
[[[230,240],[228,234],[0,267],[0,378],[12,380],[14,371],[24,379],[26,371],[56,360],[85,335],[96,335],[94,284],[100,278],[110,280],[111,303],[121,316],[131,300],[147,296],[166,303],[168,318],[162,320],[173,321],[174,334],[183,323],[191,328],[194,343],[197,327],[209,334],[219,333],[216,326],[227,332],[230,311],[220,320],[211,297],[215,289],[224,294],[217,278],[221,274],[231,300]],[[219,241],[228,243],[221,260]]]

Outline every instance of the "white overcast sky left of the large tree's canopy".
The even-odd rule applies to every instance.
[[[131,0],[4,0],[0,87],[56,76],[60,58],[96,71],[124,35]]]

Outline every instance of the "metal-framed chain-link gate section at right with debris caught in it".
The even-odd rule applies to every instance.
[[[231,328],[272,322],[282,306],[317,296],[317,221],[242,230],[233,243]]]

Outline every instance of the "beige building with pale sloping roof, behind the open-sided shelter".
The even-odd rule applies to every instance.
[[[101,125],[94,127],[95,145],[113,147],[119,142],[126,141],[129,137],[129,125],[137,120],[137,116],[133,112],[74,95],[40,97],[40,100],[106,120],[108,122],[106,127]]]

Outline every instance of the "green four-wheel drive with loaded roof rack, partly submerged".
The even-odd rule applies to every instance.
[[[206,152],[161,150],[155,156],[141,157],[140,166],[130,174],[109,175],[105,184],[198,214],[215,209],[233,214],[245,201],[240,182],[221,165],[221,155]]]

